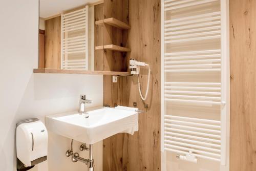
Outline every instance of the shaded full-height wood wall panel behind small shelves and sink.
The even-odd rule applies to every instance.
[[[119,20],[125,20],[127,23],[128,10],[127,0],[105,0],[104,1],[104,18],[115,17]],[[114,44],[123,46],[126,44],[127,34],[115,27],[104,24],[104,45]],[[126,53],[124,53],[126,54]],[[105,69],[113,71],[127,71],[126,57],[123,53],[104,50],[104,66]],[[119,77],[117,83],[112,83],[112,77],[103,77],[103,103],[127,106],[126,96],[126,77]],[[103,170],[123,170],[123,144],[124,134],[117,134],[108,139],[103,140]]]

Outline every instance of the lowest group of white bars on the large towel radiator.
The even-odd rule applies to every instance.
[[[221,122],[165,115],[164,149],[178,154],[221,160]]]

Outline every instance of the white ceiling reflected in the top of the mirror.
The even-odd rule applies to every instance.
[[[99,0],[39,0],[39,16],[51,17],[82,5],[98,2]]]

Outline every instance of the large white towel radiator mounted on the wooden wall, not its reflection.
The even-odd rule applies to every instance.
[[[161,151],[226,164],[227,0],[162,0]]]

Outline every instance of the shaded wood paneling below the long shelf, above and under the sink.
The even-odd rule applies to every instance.
[[[119,77],[117,83],[112,83],[112,76],[103,76],[103,104],[127,106],[126,80]],[[123,144],[124,134],[103,140],[103,170],[123,170]]]

